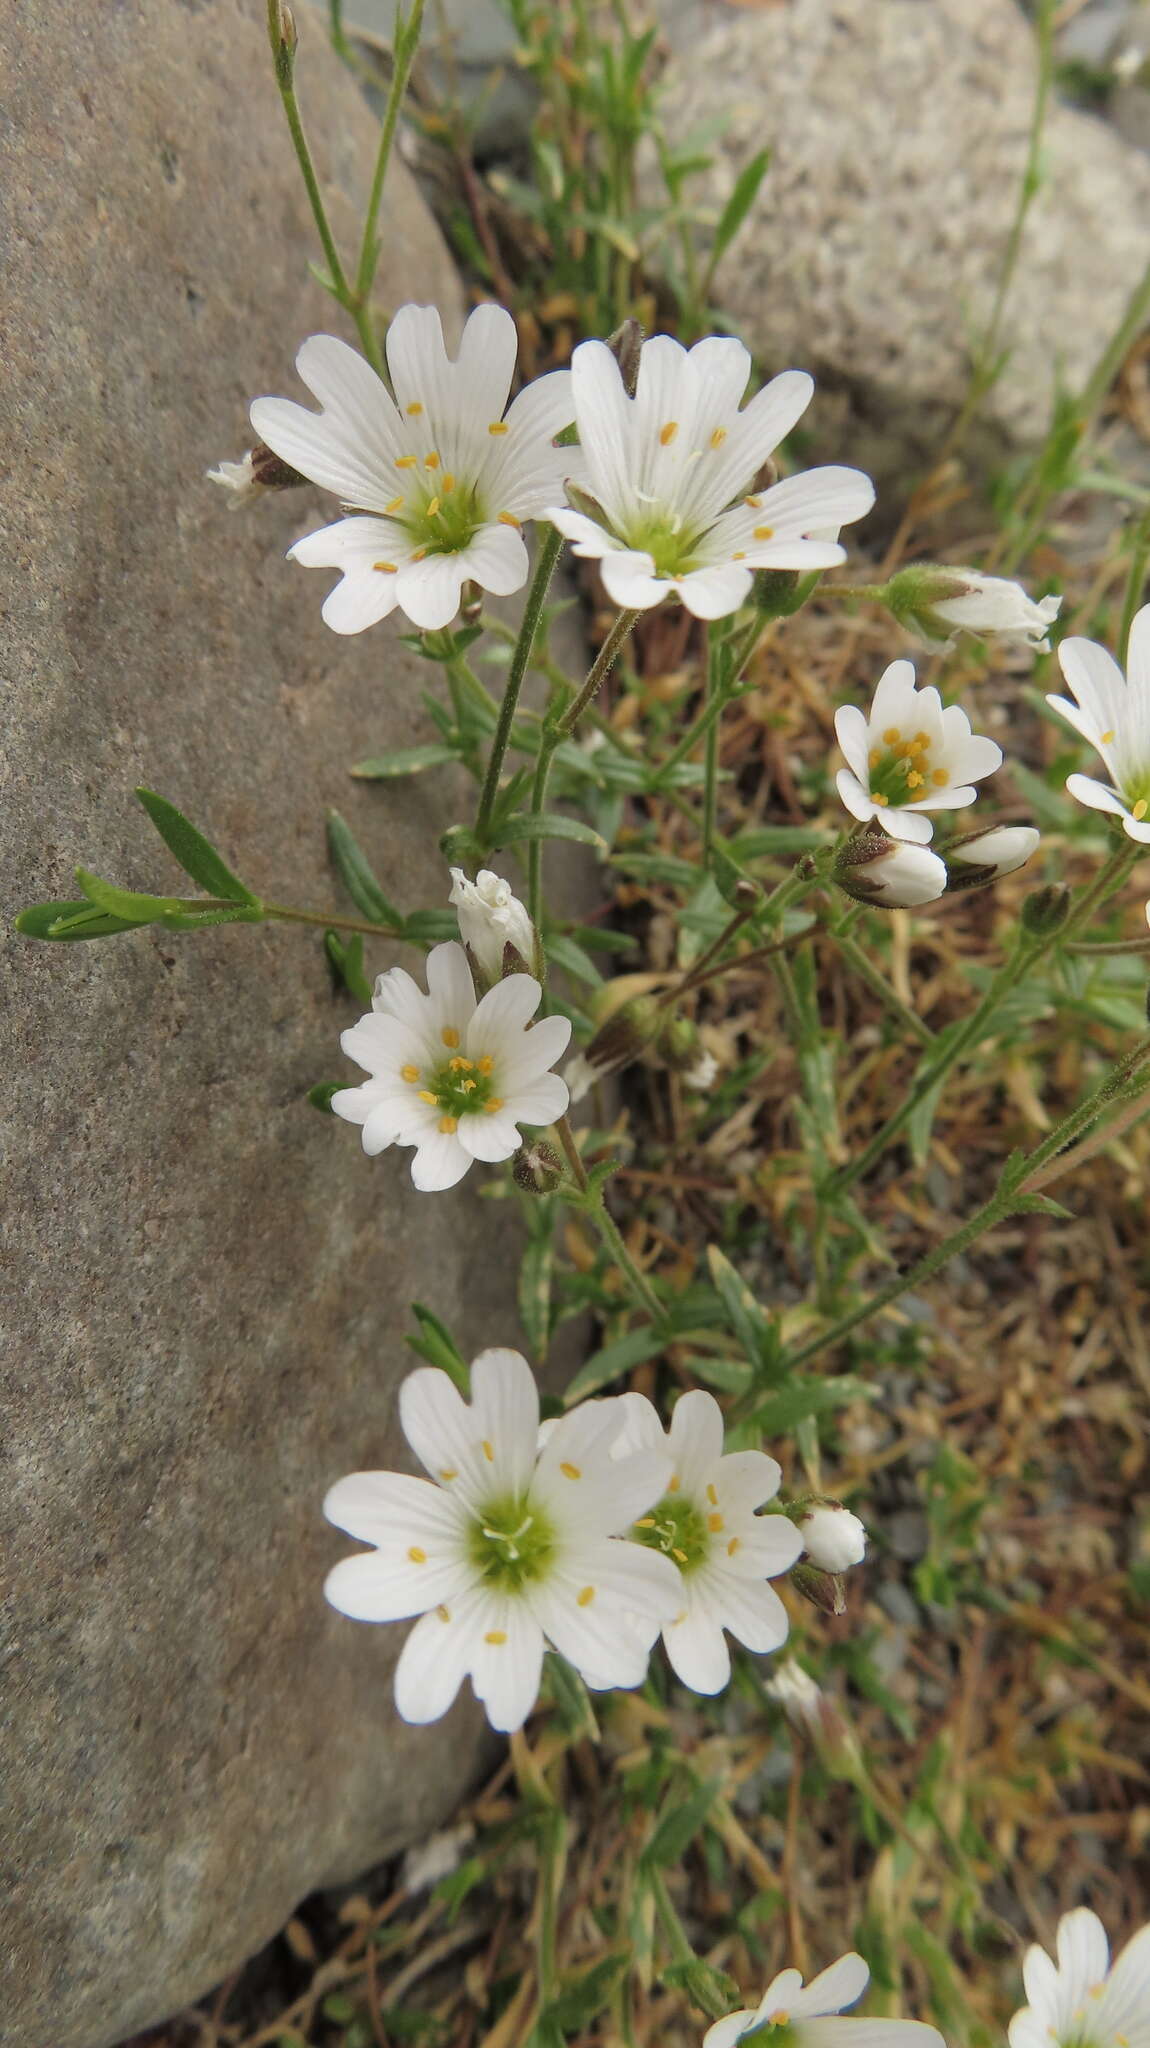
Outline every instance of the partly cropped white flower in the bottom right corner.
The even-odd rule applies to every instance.
[[[1011,2048],[1150,2048],[1150,1927],[1113,1970],[1101,1919],[1078,1907],[1058,1921],[1058,1962],[1027,1948],[1027,2005],[1011,2019]]]

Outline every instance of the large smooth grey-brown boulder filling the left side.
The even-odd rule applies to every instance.
[[[301,12],[299,84],[350,242],[374,123]],[[78,860],[176,870],[149,782],[254,887],[334,903],[323,807],[399,903],[438,893],[442,774],[346,764],[426,737],[430,670],[319,621],[291,494],[229,516],[205,469],[334,322],[262,0],[16,0],[2,18],[6,909]],[[383,291],[462,313],[401,166]],[[368,946],[370,954],[370,946]],[[409,965],[413,965],[411,956]],[[368,967],[387,965],[374,952]],[[321,1599],[325,1485],[399,1454],[405,1305],[516,1341],[505,1223],[303,1102],[350,1075],[303,930],[6,946],[6,1561],[0,2040],[104,2048],[207,1991],[319,1882],[434,1825],[471,1706],[391,1706],[401,1630]]]

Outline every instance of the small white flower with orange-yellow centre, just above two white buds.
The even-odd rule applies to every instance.
[[[892,662],[878,680],[870,719],[841,705],[835,733],[847,766],[835,778],[853,817],[882,821],[896,840],[933,834],[927,811],[960,811],[974,803],[970,786],[1003,762],[994,739],[970,731],[958,705],[943,709],[937,690],[915,688],[913,662]]]

